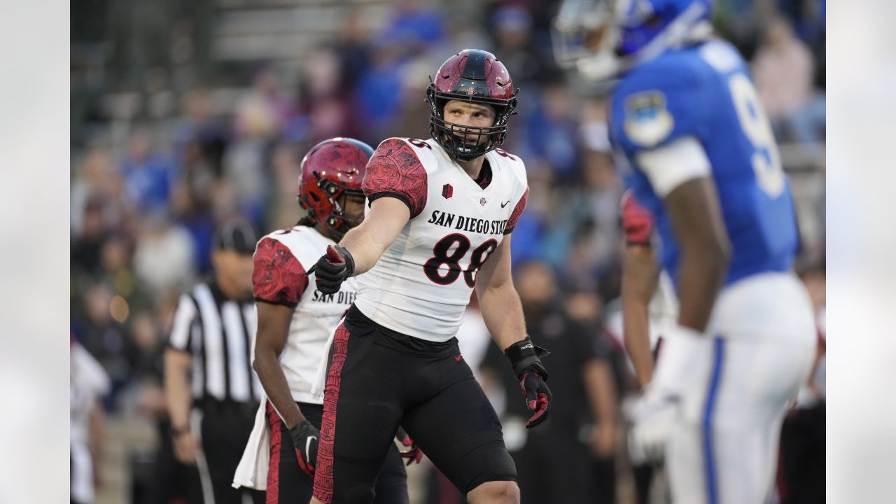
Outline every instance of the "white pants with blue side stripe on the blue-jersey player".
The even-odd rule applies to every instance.
[[[709,359],[682,397],[667,445],[676,504],[762,504],[771,495],[780,425],[806,381],[816,336],[795,274],[756,274],[721,292]]]

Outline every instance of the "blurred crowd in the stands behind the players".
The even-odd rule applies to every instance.
[[[611,380],[616,404],[632,388],[621,335],[606,327],[619,295],[622,185],[604,98],[555,63],[558,2],[334,3],[336,28],[289,48],[295,58],[238,64],[221,55],[216,20],[265,2],[177,4],[97,0],[72,13],[71,330],[111,378],[108,415],[164,420],[160,354],[177,296],[211,272],[217,224],[242,216],[264,234],[295,223],[298,166],[323,139],[428,138],[428,76],[461,48],[486,48],[520,88],[504,145],[526,162],[531,191],[514,230],[513,260],[526,277],[517,282],[528,285],[521,295],[533,334],[553,330],[536,321],[559,317],[569,321],[562,331],[588,339],[544,344],[557,347],[550,359],[576,366],[552,375],[558,408],[563,396],[572,409],[558,410],[556,424],[569,422],[569,442],[582,440],[601,471],[621,435],[577,429],[599,415],[583,376]],[[294,15],[311,10],[303,4]],[[824,5],[719,0],[714,20],[752,65],[797,196],[797,266],[814,282],[820,274],[822,292]],[[550,299],[538,300],[546,289]],[[573,372],[594,362],[609,371]],[[504,364],[495,360],[494,374],[480,378],[504,381]]]

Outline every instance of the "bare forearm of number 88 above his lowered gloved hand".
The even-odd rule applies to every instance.
[[[513,282],[477,291],[479,309],[488,332],[502,352],[508,346],[525,339],[526,322],[522,315],[520,295]]]

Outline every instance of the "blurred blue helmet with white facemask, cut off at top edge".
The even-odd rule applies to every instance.
[[[710,37],[712,0],[564,0],[558,63],[601,81],[670,48]]]

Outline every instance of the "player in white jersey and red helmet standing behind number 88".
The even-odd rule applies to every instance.
[[[339,291],[324,294],[315,289],[306,268],[363,220],[361,181],[373,152],[351,138],[315,145],[302,160],[298,185],[298,201],[307,216],[292,228],[272,232],[255,248],[258,332],[253,367],[267,399],[235,484],[266,489],[268,504],[311,499],[323,415],[322,400],[311,386],[327,338],[355,299],[358,285],[349,279]],[[377,502],[408,502],[407,477],[394,444],[376,491]]]

